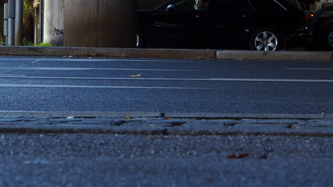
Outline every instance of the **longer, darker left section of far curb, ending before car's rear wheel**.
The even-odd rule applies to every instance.
[[[215,50],[130,49],[95,47],[4,46],[1,47],[0,55],[216,59]]]

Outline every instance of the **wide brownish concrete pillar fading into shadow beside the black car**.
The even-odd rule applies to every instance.
[[[64,45],[135,47],[137,1],[65,0]]]

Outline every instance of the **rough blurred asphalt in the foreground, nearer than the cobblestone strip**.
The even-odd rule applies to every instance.
[[[330,137],[1,134],[0,145],[0,186],[333,183]]]

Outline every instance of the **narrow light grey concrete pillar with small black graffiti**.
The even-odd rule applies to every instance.
[[[64,0],[44,0],[43,42],[63,46]]]

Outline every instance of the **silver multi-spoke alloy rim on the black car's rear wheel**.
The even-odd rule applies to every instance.
[[[277,49],[277,37],[268,31],[263,31],[255,37],[255,48],[265,51],[275,51]]]

